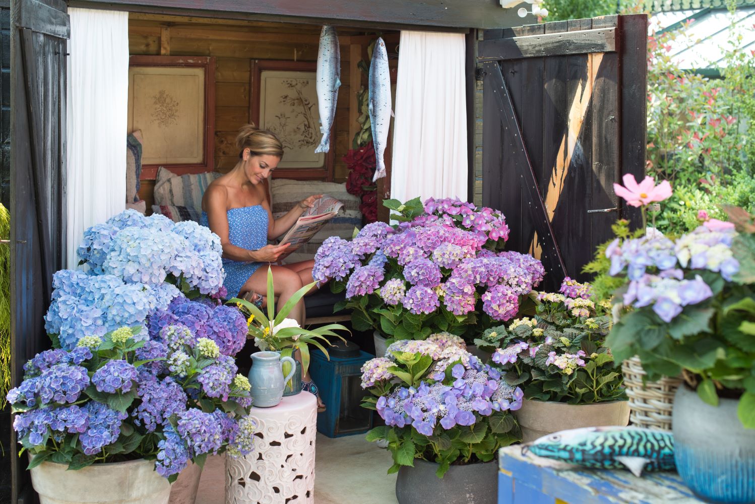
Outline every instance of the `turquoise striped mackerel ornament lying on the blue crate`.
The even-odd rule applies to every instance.
[[[554,432],[522,445],[524,453],[553,460],[555,463],[549,465],[555,469],[626,467],[637,477],[643,470],[674,469],[673,435],[638,427],[584,427]]]

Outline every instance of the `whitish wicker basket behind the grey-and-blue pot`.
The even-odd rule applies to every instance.
[[[657,382],[643,383],[646,373],[636,356],[624,361],[621,371],[629,396],[629,423],[637,427],[670,432],[673,395],[682,380],[664,376]]]

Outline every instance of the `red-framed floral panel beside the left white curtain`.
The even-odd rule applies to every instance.
[[[131,56],[128,132],[142,132],[140,178],[153,180],[160,166],[213,171],[214,110],[214,57]]]

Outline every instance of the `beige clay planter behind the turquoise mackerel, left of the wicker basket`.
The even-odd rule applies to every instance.
[[[525,399],[521,409],[512,412],[522,428],[522,443],[529,443],[552,432],[580,427],[627,426],[627,401],[593,404],[565,404]]]

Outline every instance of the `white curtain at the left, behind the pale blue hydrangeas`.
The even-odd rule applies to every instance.
[[[125,208],[128,12],[70,8],[66,254],[84,230]]]

